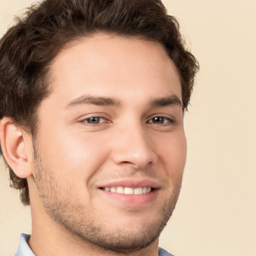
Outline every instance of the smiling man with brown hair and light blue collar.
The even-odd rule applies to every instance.
[[[198,69],[159,0],[44,0],[0,41],[0,142],[30,204],[19,255],[171,255]]]

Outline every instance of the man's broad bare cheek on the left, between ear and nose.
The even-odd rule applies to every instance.
[[[105,140],[93,133],[52,130],[50,134],[41,136],[40,147],[44,159],[60,175],[72,175],[73,181],[75,178],[86,180],[100,169],[107,158],[109,148]]]

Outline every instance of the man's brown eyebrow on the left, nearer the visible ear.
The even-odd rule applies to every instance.
[[[91,95],[82,95],[75,99],[72,99],[65,106],[65,109],[71,108],[77,105],[83,104],[94,104],[94,105],[102,105],[102,106],[120,106],[121,103],[118,99],[113,97],[100,97],[100,96],[91,96]]]

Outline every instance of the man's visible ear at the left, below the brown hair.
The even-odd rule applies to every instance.
[[[31,137],[17,126],[11,118],[0,120],[0,142],[3,156],[20,178],[32,175],[32,142]]]

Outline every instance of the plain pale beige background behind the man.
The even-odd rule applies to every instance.
[[[0,33],[32,0],[0,0]],[[256,1],[164,0],[200,62],[188,156],[160,245],[176,256],[256,256]],[[0,255],[30,232],[29,207],[0,163]]]

